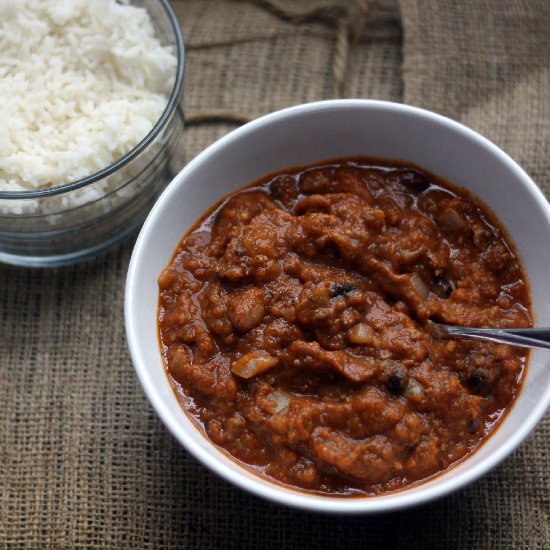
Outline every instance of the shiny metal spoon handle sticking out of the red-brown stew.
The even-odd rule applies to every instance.
[[[433,321],[428,321],[428,326],[437,338],[467,338],[550,350],[550,328],[473,328],[442,325]]]

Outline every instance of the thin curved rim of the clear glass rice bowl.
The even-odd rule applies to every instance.
[[[76,189],[81,189],[92,183],[95,183],[99,180],[102,180],[112,174],[117,170],[128,164],[131,160],[139,156],[147,147],[151,144],[152,141],[159,135],[161,130],[167,125],[167,123],[172,118],[174,112],[176,111],[181,94],[183,92],[183,75],[185,72],[185,45],[183,40],[183,31],[180,27],[178,18],[170,5],[169,0],[158,0],[162,8],[164,9],[170,26],[174,32],[174,38],[176,42],[176,75],[174,79],[174,86],[168,98],[168,102],[164,111],[162,112],[160,118],[157,120],[153,128],[149,133],[128,153],[117,159],[112,164],[109,164],[105,168],[86,176],[85,178],[80,178],[78,180],[63,183],[61,185],[56,185],[48,189],[33,189],[29,191],[0,191],[0,200],[21,200],[21,199],[37,199],[44,197],[52,197],[55,195],[60,195],[69,191],[74,191]],[[147,9],[144,6],[144,9]]]

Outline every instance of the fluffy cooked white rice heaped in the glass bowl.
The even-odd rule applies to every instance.
[[[47,189],[112,164],[159,119],[176,65],[143,8],[0,0],[0,191]],[[21,210],[13,201],[1,210],[10,203]]]

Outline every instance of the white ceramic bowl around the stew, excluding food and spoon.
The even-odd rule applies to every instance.
[[[382,512],[441,497],[510,454],[550,401],[550,354],[532,354],[523,389],[498,430],[470,458],[416,487],[379,497],[335,498],[285,489],[238,466],[180,407],[157,338],[157,276],[182,236],[221,197],[283,168],[335,157],[410,161],[470,189],[498,216],[531,284],[536,323],[550,326],[550,207],[527,174],[495,145],[439,115],[405,105],[339,100],[300,105],[226,135],[190,162],[162,194],[137,240],[126,285],[126,330],[139,380],[162,421],[206,466],[270,500],[323,512]]]

